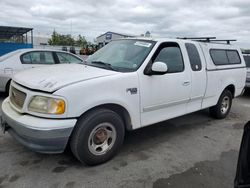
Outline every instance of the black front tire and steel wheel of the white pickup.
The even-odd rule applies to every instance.
[[[124,123],[117,113],[97,109],[78,120],[70,148],[82,163],[97,165],[115,156],[123,144],[124,135]]]

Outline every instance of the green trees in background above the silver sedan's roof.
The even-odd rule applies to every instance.
[[[48,43],[49,45],[83,47],[87,44],[87,41],[84,36],[79,35],[77,40],[75,40],[71,35],[61,35],[54,30]]]

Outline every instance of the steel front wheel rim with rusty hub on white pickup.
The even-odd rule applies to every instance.
[[[89,151],[94,155],[107,153],[113,147],[116,135],[116,130],[111,123],[97,125],[89,135]]]

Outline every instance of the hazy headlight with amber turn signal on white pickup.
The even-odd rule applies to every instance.
[[[35,96],[29,103],[28,110],[43,114],[60,115],[65,112],[65,102],[62,99]]]

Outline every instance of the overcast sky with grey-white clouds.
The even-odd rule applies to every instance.
[[[250,48],[250,0],[0,0],[0,25],[34,28],[35,35],[107,31],[153,37],[215,36]]]

